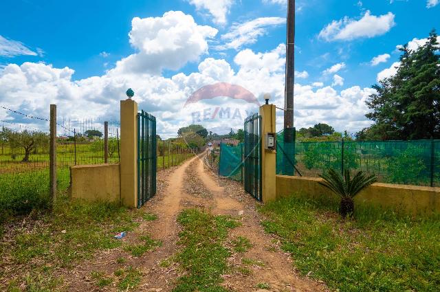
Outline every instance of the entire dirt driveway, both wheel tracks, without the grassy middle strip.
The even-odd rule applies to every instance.
[[[204,164],[203,155],[186,161],[181,166],[159,172],[157,195],[143,207],[145,212],[157,214],[155,221],[145,221],[123,240],[136,240],[136,234],[151,234],[162,241],[162,246],[135,258],[122,249],[104,251],[97,254],[87,265],[65,271],[64,278],[69,291],[100,291],[91,280],[91,271],[112,274],[131,265],[142,271],[142,282],[137,291],[172,291],[179,278],[177,264],[161,265],[179,250],[177,245],[179,225],[176,221],[181,210],[200,207],[213,214],[228,214],[239,218],[241,226],[232,229],[228,242],[243,236],[250,240],[252,247],[241,254],[232,254],[228,259],[232,271],[223,275],[223,286],[232,291],[327,291],[320,282],[299,276],[294,262],[278,247],[276,238],[265,234],[261,227],[259,205],[243,191],[240,183],[219,179]],[[126,262],[118,261],[125,258]],[[242,260],[246,259],[246,263]],[[267,283],[270,289],[258,288],[259,283]],[[105,291],[115,291],[116,287],[105,287]]]

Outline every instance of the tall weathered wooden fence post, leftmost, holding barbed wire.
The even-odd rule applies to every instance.
[[[50,197],[56,200],[56,104],[50,105],[50,149],[49,149]]]

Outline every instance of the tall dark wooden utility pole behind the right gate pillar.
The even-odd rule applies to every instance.
[[[283,175],[294,175],[295,161],[294,85],[295,85],[295,0],[287,1],[286,78],[284,102]]]

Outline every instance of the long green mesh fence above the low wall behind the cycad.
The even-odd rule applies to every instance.
[[[374,174],[384,183],[440,186],[440,140],[296,142],[295,155],[284,150],[283,133],[277,143],[278,175],[290,175],[294,164],[295,175],[305,177],[344,168]]]

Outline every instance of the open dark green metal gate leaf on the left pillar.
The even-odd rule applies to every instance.
[[[145,111],[137,113],[137,207],[156,194],[156,118]]]

